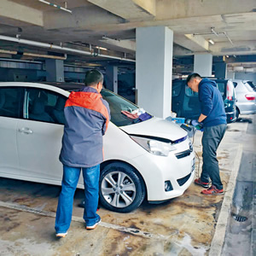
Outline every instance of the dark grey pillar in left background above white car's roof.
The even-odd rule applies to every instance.
[[[64,82],[64,64],[62,60],[45,60],[46,81]]]

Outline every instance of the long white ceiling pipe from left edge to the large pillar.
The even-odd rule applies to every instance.
[[[42,48],[47,48],[47,49],[58,49],[58,50],[66,52],[66,53],[69,52],[69,53],[79,54],[79,55],[90,55],[90,56],[95,56],[95,57],[99,56],[99,57],[103,57],[103,58],[109,58],[109,59],[120,60],[120,61],[136,62],[135,60],[131,60],[131,59],[110,56],[110,55],[102,55],[102,54],[92,53],[90,51],[85,51],[85,50],[80,50],[80,49],[72,49],[72,48],[62,47],[62,46],[55,45],[55,44],[46,44],[46,43],[41,43],[41,42],[26,40],[26,39],[21,39],[21,38],[12,38],[12,37],[7,37],[7,36],[3,36],[3,35],[0,35],[0,40],[11,41],[11,42],[19,43],[19,44],[27,44],[27,45],[32,45],[32,46],[42,47]]]

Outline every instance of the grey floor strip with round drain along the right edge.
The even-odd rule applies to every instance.
[[[256,115],[251,118],[247,134],[240,138],[244,150],[224,240],[225,256],[256,255]],[[234,214],[247,219],[236,221]]]

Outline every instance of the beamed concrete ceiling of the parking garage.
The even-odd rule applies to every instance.
[[[135,59],[136,28],[168,26],[175,56],[256,55],[256,0],[1,0],[0,35]],[[65,2],[67,3],[65,5]],[[154,35],[152,35],[154,37]],[[209,43],[211,39],[214,44]],[[1,49],[38,50],[0,41]],[[92,48],[91,48],[92,47]],[[56,52],[61,53],[61,50]],[[62,51],[62,53],[65,53]],[[0,54],[0,57],[8,54]],[[95,60],[68,55],[70,60]],[[97,61],[106,58],[97,57]]]

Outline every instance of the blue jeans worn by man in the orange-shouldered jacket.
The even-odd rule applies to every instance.
[[[94,225],[100,219],[96,214],[99,199],[100,165],[82,168],[84,177],[84,221],[86,225]],[[69,229],[73,212],[73,195],[79,182],[81,168],[63,165],[61,194],[55,218],[57,233],[65,233]]]

